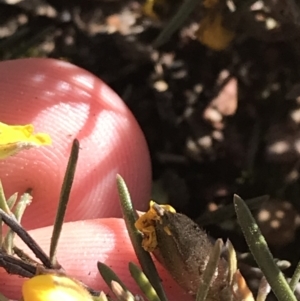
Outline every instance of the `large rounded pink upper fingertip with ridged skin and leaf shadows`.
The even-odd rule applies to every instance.
[[[0,63],[0,121],[33,123],[49,133],[51,147],[0,161],[7,196],[33,189],[27,229],[50,225],[74,138],[80,141],[66,221],[120,216],[115,176],[121,174],[135,206],[150,195],[151,168],[145,138],[123,101],[101,80],[69,63],[21,59]]]

